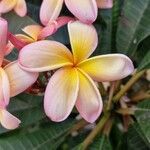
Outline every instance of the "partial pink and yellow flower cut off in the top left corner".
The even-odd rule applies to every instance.
[[[24,17],[27,13],[25,0],[0,0],[0,14],[14,10],[19,16]]]

